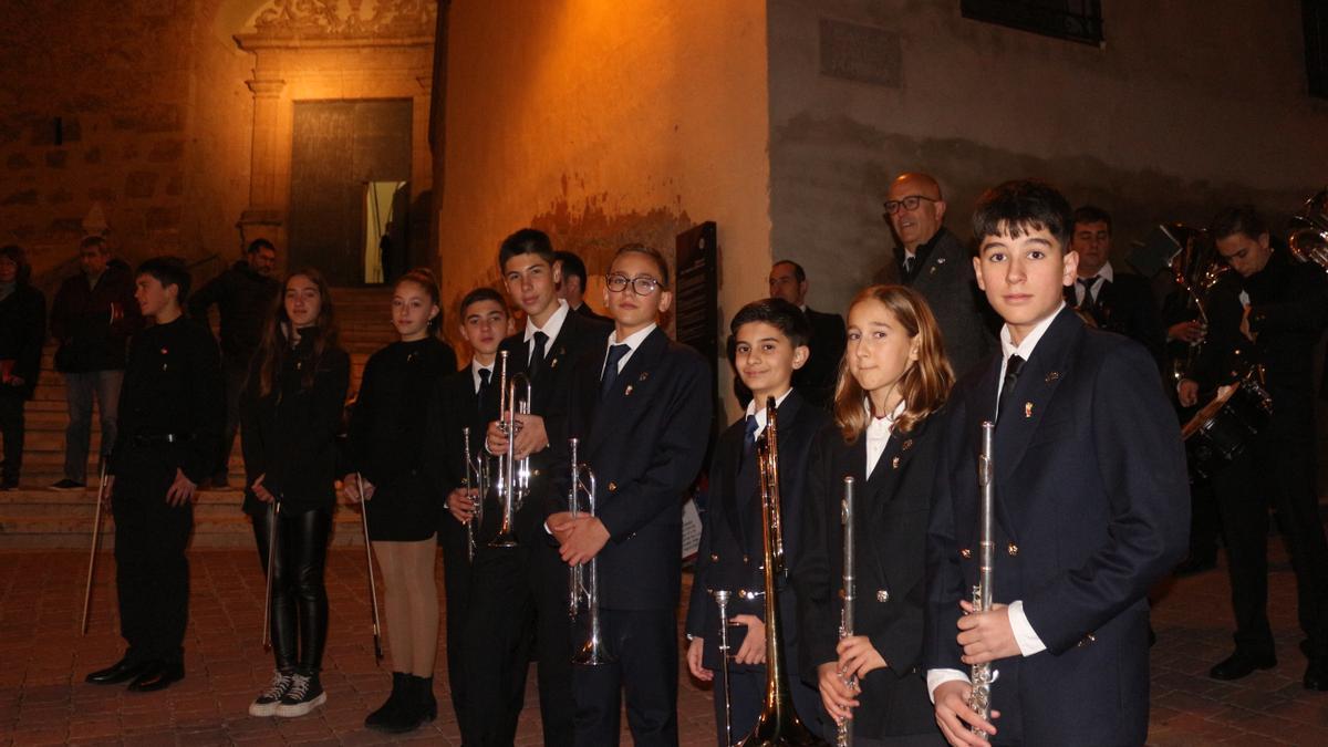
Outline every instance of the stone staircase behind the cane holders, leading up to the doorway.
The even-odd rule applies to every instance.
[[[341,346],[351,355],[351,393],[360,387],[364,364],[376,350],[393,342],[389,307],[390,288],[335,288],[336,314],[341,328]],[[215,312],[214,312],[215,315]],[[214,319],[215,322],[215,319]],[[215,323],[214,323],[215,328]],[[19,489],[0,492],[0,549],[86,549],[97,501],[96,455],[101,445],[101,427],[93,408],[93,463],[88,465],[88,489],[56,492],[48,488],[64,477],[65,427],[69,423],[64,379],[53,364],[54,346],[48,344],[41,359],[41,379],[27,405],[27,441]],[[240,440],[235,439],[230,460],[230,489],[199,490],[194,506],[195,548],[248,548],[254,534],[248,517],[240,510],[244,463]],[[109,501],[108,501],[109,506]],[[363,541],[360,513],[339,505],[333,518],[336,545]],[[104,512],[102,542],[114,544],[114,520]]]

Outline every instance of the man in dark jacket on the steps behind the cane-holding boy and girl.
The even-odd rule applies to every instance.
[[[250,360],[263,340],[263,323],[282,284],[272,278],[276,247],[267,239],[254,239],[244,258],[212,278],[189,302],[189,314],[207,324],[214,304],[222,323],[222,372],[226,377],[226,432],[208,473],[215,488],[227,485],[231,447],[240,423],[240,393],[248,380]]]

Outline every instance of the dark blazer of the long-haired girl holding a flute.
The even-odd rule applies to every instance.
[[[802,671],[839,657],[839,621],[843,601],[843,479],[854,488],[854,633],[866,635],[886,669],[862,679],[855,711],[858,736],[882,739],[936,734],[926,673],[922,671],[926,609],[924,552],[936,457],[940,451],[940,413],[894,433],[871,477],[867,439],[843,441],[838,425],[829,425],[811,448],[807,494],[803,502],[806,546],[793,577],[798,590],[802,630]]]

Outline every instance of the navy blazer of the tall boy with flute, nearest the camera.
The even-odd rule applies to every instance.
[[[980,423],[1000,356],[955,387],[927,537],[926,669],[968,667],[959,601],[977,580]],[[1023,599],[1046,645],[995,662],[996,743],[1142,744],[1147,591],[1185,557],[1190,497],[1179,427],[1149,352],[1062,308],[996,429],[995,599]]]

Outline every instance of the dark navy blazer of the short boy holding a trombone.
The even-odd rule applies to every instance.
[[[830,421],[830,415],[811,404],[797,389],[778,407],[780,431],[780,498],[784,516],[784,557],[791,576],[801,562],[806,544],[802,530],[803,477],[807,455],[815,435]],[[687,610],[687,633],[705,639],[704,663],[718,669],[720,610],[709,594],[713,589],[734,593],[728,614],[754,614],[765,619],[765,599],[740,599],[737,591],[765,589],[765,534],[761,526],[761,493],[757,488],[757,457],[744,457],[746,416],[729,425],[714,447],[710,459],[710,501],[703,514],[701,545],[696,554],[692,597]],[[794,590],[781,594],[786,649],[795,651],[797,609]],[[729,645],[740,646],[746,627],[729,629]],[[733,671],[749,669],[730,665]],[[797,667],[797,662],[790,662]],[[764,666],[760,669],[765,669]]]

